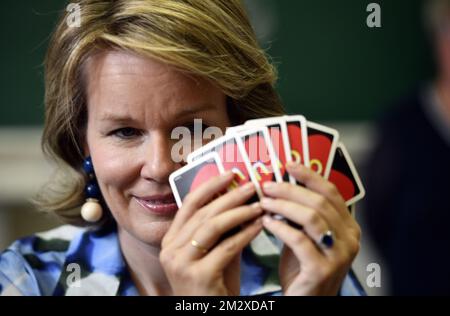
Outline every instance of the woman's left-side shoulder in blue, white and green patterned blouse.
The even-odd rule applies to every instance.
[[[15,241],[0,254],[0,295],[51,295],[71,241],[84,231],[66,225]]]

